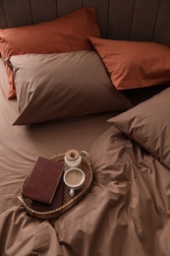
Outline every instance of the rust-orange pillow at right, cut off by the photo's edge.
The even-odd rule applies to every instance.
[[[170,82],[170,48],[144,41],[89,38],[118,90]]]

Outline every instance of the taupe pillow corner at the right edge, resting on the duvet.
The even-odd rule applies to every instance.
[[[108,120],[170,169],[170,88]]]

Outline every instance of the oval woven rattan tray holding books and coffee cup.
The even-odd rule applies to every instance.
[[[92,184],[92,176],[93,176],[92,167],[91,167],[91,160],[85,151],[81,152],[81,156],[82,156],[82,169],[85,172],[84,186],[80,190],[76,191],[76,195],[74,198],[70,196],[69,189],[66,186],[64,186],[63,205],[58,209],[55,209],[49,212],[37,212],[31,209],[31,200],[24,197],[22,194],[23,188],[26,184],[28,177],[25,179],[22,185],[21,194],[19,195],[19,200],[21,201],[22,205],[25,207],[25,209],[27,210],[30,216],[38,218],[40,220],[58,219],[66,211],[68,211],[69,209],[74,207],[76,204],[78,204],[78,202],[86,195],[86,193],[88,192]],[[51,159],[64,161],[64,157],[65,157],[65,154],[58,154],[52,157]]]

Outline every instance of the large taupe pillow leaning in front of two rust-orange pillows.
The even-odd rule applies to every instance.
[[[15,125],[132,107],[113,88],[95,51],[12,56],[19,116]]]

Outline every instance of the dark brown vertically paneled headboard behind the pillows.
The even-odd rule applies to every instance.
[[[170,45],[170,0],[0,0],[0,28],[49,21],[85,6],[95,7],[104,38]]]

